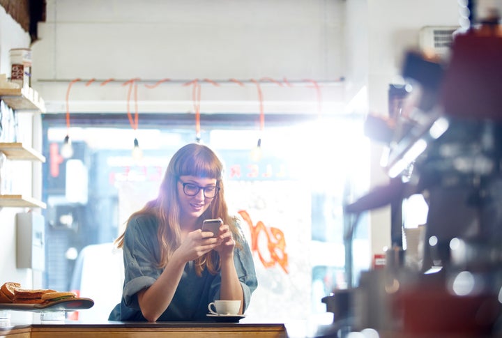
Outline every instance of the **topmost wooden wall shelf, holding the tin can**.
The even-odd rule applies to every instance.
[[[37,91],[29,89],[0,88],[3,102],[16,112],[45,113],[45,102],[38,97]]]

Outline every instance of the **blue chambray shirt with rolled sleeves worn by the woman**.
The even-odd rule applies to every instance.
[[[125,279],[121,303],[109,315],[109,321],[146,321],[137,300],[137,292],[149,288],[162,273],[157,240],[158,221],[151,215],[139,215],[128,223],[124,236],[123,260]],[[247,242],[234,250],[234,264],[244,295],[243,309],[250,303],[257,288],[252,254]],[[220,298],[221,273],[211,275],[206,269],[201,277],[195,273],[194,262],[185,265],[183,275],[171,304],[158,321],[205,321],[208,303]]]

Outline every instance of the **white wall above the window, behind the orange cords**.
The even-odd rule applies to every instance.
[[[134,77],[171,82],[139,89],[140,112],[192,109],[192,79],[249,82],[271,78],[314,79],[323,86],[324,109],[344,101],[344,1],[47,1],[47,22],[33,56],[37,89],[49,112],[66,109],[68,81],[81,78],[118,83],[72,87],[72,112],[123,112],[122,82]],[[249,83],[248,83],[249,84]],[[315,112],[316,93],[302,86],[264,81],[265,109]],[[204,112],[257,112],[254,84],[204,83]]]

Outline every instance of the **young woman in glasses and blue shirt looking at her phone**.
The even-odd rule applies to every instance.
[[[228,213],[223,166],[210,148],[188,144],[169,162],[158,197],[133,213],[123,248],[122,300],[110,321],[204,321],[208,303],[248,307],[257,278],[248,243]],[[213,237],[206,219],[223,220]]]

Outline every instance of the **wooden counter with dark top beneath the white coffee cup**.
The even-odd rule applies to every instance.
[[[107,322],[86,324],[73,321],[56,324],[30,324],[0,327],[0,337],[49,338],[49,337],[270,337],[286,338],[284,324],[266,323],[206,323],[160,322],[130,323]]]

